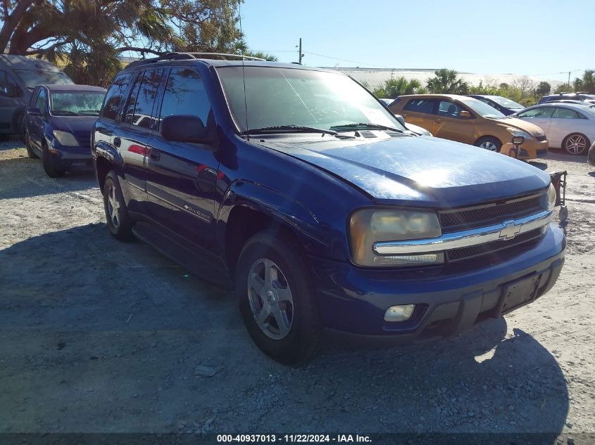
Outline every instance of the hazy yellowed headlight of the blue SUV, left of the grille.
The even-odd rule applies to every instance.
[[[351,215],[349,247],[359,266],[391,267],[441,264],[444,253],[379,255],[372,245],[380,241],[419,240],[441,236],[436,212],[425,210],[362,209]]]

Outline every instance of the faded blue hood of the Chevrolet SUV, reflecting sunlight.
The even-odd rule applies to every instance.
[[[369,142],[292,135],[259,144],[323,169],[377,202],[457,207],[541,191],[550,183],[548,174],[512,157],[427,136]]]

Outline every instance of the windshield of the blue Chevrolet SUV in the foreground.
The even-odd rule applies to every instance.
[[[361,129],[368,123],[404,130],[374,96],[344,75],[276,67],[244,70],[245,102],[242,67],[218,68],[227,103],[241,131],[287,126],[342,131],[340,127],[346,125],[358,124]]]

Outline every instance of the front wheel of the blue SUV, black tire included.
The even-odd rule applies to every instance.
[[[236,295],[246,329],[256,346],[286,365],[310,361],[325,340],[308,271],[301,246],[283,232],[257,233],[237,262]]]

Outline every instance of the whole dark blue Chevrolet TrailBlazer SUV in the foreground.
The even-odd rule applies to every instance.
[[[115,77],[93,135],[113,236],[234,288],[283,363],[332,336],[456,335],[541,297],[563,266],[548,174],[415,136],[337,72],[141,60]]]

